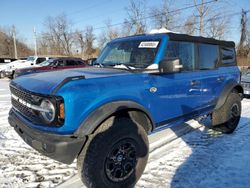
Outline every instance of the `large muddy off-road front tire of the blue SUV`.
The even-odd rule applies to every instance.
[[[125,145],[126,142],[131,142],[131,145]],[[94,188],[133,187],[140,179],[147,164],[148,145],[148,137],[144,128],[129,117],[111,117],[107,119],[88,138],[77,158],[78,173],[82,182],[87,187]],[[116,147],[124,150],[117,150]],[[117,152],[125,154],[118,155]],[[115,162],[110,164],[112,163],[110,156],[113,155],[115,157],[112,160]],[[132,162],[126,161],[131,158],[134,159]],[[119,169],[122,168],[119,168],[119,164],[123,164],[123,169],[126,167],[126,170],[121,172],[127,175],[121,178],[115,177],[121,175]],[[130,165],[133,166],[133,170],[131,170]],[[111,172],[115,175],[112,176]]]

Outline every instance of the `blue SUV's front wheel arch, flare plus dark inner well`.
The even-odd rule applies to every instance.
[[[133,101],[115,101],[102,105],[93,111],[75,131],[76,137],[93,134],[95,130],[111,116],[127,116],[139,123],[147,133],[154,128],[150,113],[140,104]]]

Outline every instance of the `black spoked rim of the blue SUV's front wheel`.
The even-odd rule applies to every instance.
[[[124,181],[134,172],[136,162],[135,141],[132,139],[120,140],[113,146],[106,158],[106,175],[111,181]]]

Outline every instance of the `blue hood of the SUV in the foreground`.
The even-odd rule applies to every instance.
[[[91,79],[101,77],[114,77],[120,75],[132,74],[126,70],[110,68],[79,68],[67,69],[61,71],[51,71],[30,74],[14,79],[11,85],[21,87],[34,93],[53,94],[59,86],[66,84],[70,78]]]

